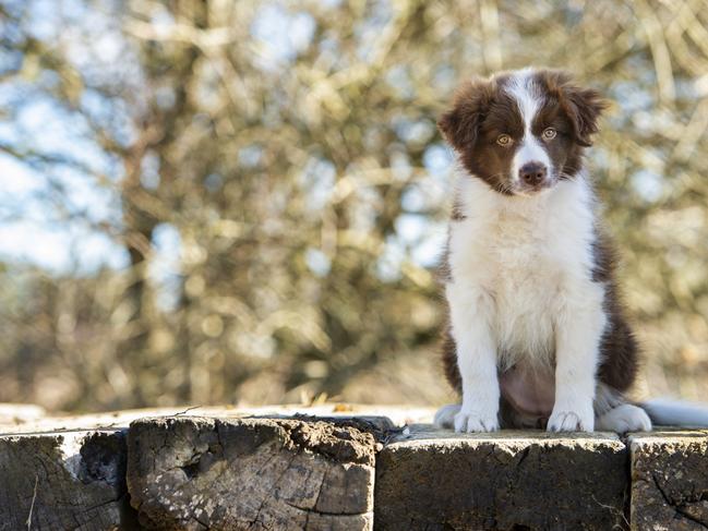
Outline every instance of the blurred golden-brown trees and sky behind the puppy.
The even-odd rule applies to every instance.
[[[645,345],[706,399],[704,0],[0,0],[0,401],[449,398],[437,113],[565,68]]]

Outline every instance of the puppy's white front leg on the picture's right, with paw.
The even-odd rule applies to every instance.
[[[600,340],[607,317],[604,289],[587,282],[561,295],[555,323],[555,403],[548,422],[550,432],[595,430],[593,400],[597,387]]]

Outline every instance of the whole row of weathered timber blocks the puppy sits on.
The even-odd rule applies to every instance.
[[[392,408],[394,423],[370,417],[386,411],[43,418],[5,406],[0,531],[708,527],[708,431],[456,435],[401,431],[432,410]]]

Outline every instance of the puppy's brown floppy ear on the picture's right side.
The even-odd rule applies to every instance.
[[[598,119],[608,108],[608,102],[593,88],[576,85],[567,72],[547,70],[539,72],[539,75],[571,120],[575,142],[584,147],[592,145],[590,136],[598,132]]]

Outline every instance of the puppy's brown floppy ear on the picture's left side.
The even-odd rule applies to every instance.
[[[471,149],[475,146],[493,94],[489,80],[476,79],[459,87],[452,109],[437,120],[437,129],[455,149]]]

